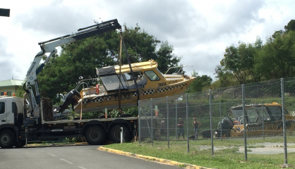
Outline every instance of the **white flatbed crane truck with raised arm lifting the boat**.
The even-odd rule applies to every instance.
[[[54,141],[61,138],[85,137],[89,144],[103,144],[121,141],[121,128],[125,140],[130,140],[136,132],[137,117],[122,115],[120,118],[110,118],[108,115],[96,119],[78,120],[48,120],[53,113],[52,102],[42,99],[38,89],[37,75],[40,73],[49,58],[56,53],[56,47],[80,39],[85,39],[104,32],[121,29],[118,20],[109,20],[89,27],[84,27],[72,35],[65,35],[40,42],[42,51],[37,53],[32,61],[26,82],[23,98],[16,96],[0,96],[0,146],[10,149],[13,146],[25,146],[26,140]],[[44,63],[42,57],[49,53]],[[68,92],[64,104],[59,106],[59,112],[64,111],[71,104],[77,104],[79,92],[73,89]]]

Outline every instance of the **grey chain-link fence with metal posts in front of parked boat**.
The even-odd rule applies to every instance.
[[[139,101],[139,141],[186,151],[295,152],[295,78]],[[288,142],[287,142],[288,138]]]

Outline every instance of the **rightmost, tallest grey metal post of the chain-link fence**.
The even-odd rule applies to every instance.
[[[287,158],[287,136],[286,136],[286,114],[284,110],[284,79],[281,79],[281,93],[282,93],[282,120],[283,120],[283,135],[284,135],[284,165],[288,165]]]

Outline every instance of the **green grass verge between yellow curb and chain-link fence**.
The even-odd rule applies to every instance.
[[[294,142],[294,137],[289,138],[290,142]],[[264,147],[255,145],[259,142],[281,142],[280,138],[266,138],[265,141],[260,139],[248,140],[247,151],[250,148]],[[207,168],[282,168],[284,164],[284,154],[248,154],[248,161],[245,161],[243,153],[239,152],[239,146],[243,146],[242,139],[224,139],[222,142],[219,139],[214,140],[214,146],[223,147],[215,149],[212,156],[210,140],[190,141],[190,151],[187,152],[187,141],[170,141],[169,149],[167,142],[155,141],[153,146],[150,142],[142,142],[140,145],[136,143],[124,144],[109,144],[104,147],[110,149],[118,149],[128,151],[133,154],[142,154],[145,156],[154,156],[164,158],[171,161],[179,161],[181,163],[191,163]],[[253,144],[253,145],[250,145]],[[202,147],[207,147],[203,149]],[[159,149],[160,148],[160,149]],[[290,168],[295,165],[295,153],[288,154],[288,164]],[[185,166],[180,166],[185,167]]]

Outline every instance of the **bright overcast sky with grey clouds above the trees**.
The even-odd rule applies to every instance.
[[[181,64],[193,65],[184,69],[188,75],[196,70],[214,80],[227,46],[253,43],[257,36],[265,42],[295,19],[294,0],[2,0],[0,8],[11,10],[10,17],[0,16],[0,80],[25,80],[38,42],[115,18],[167,40]]]

